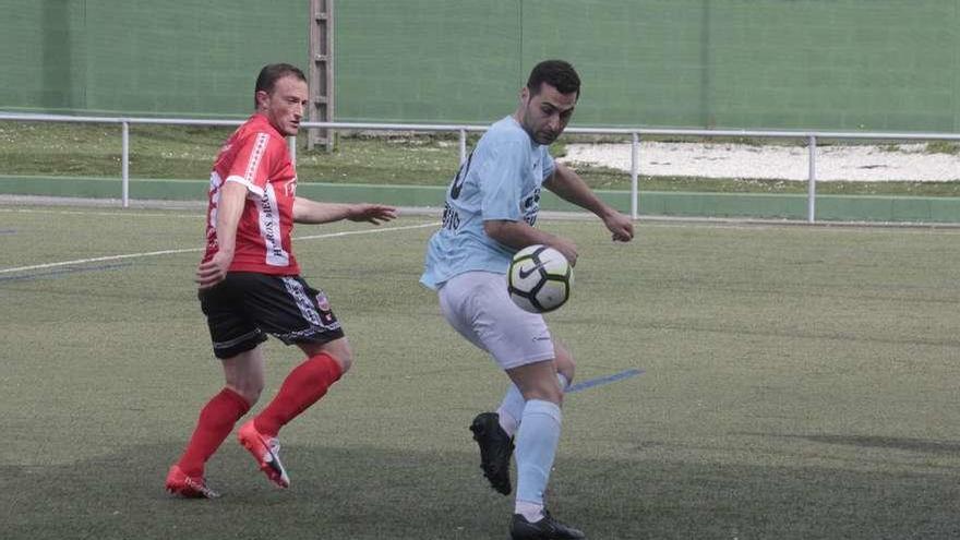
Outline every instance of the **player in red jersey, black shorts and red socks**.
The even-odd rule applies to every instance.
[[[261,344],[272,334],[297,345],[307,359],[274,399],[240,427],[240,443],[267,478],[290,485],[280,463],[280,428],[316,403],[350,368],[352,353],[322,290],[301,277],[293,257],[293,223],[349,219],[379,225],[396,217],[380,204],[319,203],[297,196],[297,172],[286,136],[296,135],[308,103],[307,77],[293,65],[263,68],[254,91],[256,112],[237,129],[211,175],[206,252],[196,269],[200,303],[225,387],[200,411],[166,487],[185,497],[214,497],[204,466],[264,386]]]

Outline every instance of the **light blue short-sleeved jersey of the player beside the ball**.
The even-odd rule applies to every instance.
[[[427,245],[420,283],[436,289],[465,272],[506,274],[516,250],[487,236],[483,221],[536,224],[541,185],[553,169],[548,147],[535,143],[513,117],[494,123],[446,191],[443,225]]]

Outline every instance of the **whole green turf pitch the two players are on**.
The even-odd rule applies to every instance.
[[[505,538],[467,430],[505,377],[417,284],[432,220],[298,229],[355,369],[281,433],[291,489],[231,436],[224,497],[184,501],[164,477],[221,385],[202,216],[0,206],[0,538]],[[960,231],[542,227],[581,253],[549,316],[578,380],[644,371],[567,397],[557,516],[591,539],[960,536]],[[267,355],[266,397],[299,360]]]

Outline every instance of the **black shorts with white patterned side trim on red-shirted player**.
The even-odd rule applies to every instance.
[[[322,290],[299,276],[230,272],[197,293],[217,358],[253,349],[272,334],[287,345],[325,344],[344,337]]]

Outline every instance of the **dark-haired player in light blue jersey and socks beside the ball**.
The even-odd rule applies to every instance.
[[[443,225],[430,239],[420,278],[437,290],[447,322],[489,352],[512,381],[497,411],[477,416],[470,430],[480,446],[484,476],[504,495],[511,493],[509,459],[516,442],[514,539],[585,536],[555,520],[543,501],[574,361],[553,340],[542,315],[511,301],[504,277],[511,257],[539,243],[576,264],[574,242],[533,227],[541,187],[596,214],[614,241],[634,236],[628,217],[598,199],[548,152],[566,128],[579,94],[580,79],[569,63],[547,60],[533,68],[517,109],[480,139],[447,190]]]

